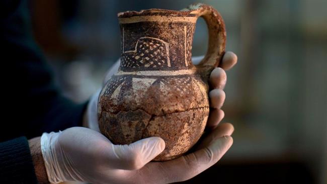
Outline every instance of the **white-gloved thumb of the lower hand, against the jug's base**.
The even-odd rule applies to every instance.
[[[117,169],[139,169],[160,154],[165,146],[160,137],[141,139],[129,145],[113,144],[110,165]]]

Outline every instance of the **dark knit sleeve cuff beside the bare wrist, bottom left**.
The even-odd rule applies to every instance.
[[[0,183],[38,183],[25,137],[0,142]]]

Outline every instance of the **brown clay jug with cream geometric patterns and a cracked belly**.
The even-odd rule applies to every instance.
[[[195,66],[191,49],[199,17],[208,25],[209,46]],[[208,78],[224,54],[224,22],[203,4],[124,12],[118,19],[121,63],[101,91],[99,128],[114,144],[161,137],[166,149],[154,160],[181,156],[199,140],[208,119]]]

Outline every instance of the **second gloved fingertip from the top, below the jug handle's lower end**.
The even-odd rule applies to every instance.
[[[223,89],[226,85],[227,75],[222,68],[212,70],[209,78],[210,86],[214,89]]]

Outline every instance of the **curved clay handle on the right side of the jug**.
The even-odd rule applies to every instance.
[[[208,50],[196,67],[203,77],[209,79],[211,71],[219,66],[225,53],[225,23],[221,15],[211,6],[199,3],[190,5],[187,10],[191,11],[190,14],[195,14],[197,18],[202,17],[207,23],[209,32]]]

